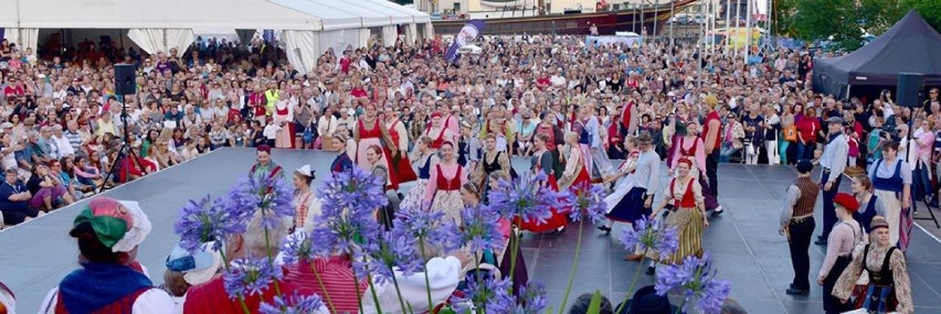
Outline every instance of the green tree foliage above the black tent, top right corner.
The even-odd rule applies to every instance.
[[[807,42],[831,40],[836,48],[856,50],[864,32],[880,35],[916,9],[941,30],[938,0],[778,0],[776,32]]]

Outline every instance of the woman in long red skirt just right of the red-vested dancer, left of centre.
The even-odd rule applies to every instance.
[[[385,121],[385,129],[389,130],[389,139],[383,148],[385,158],[389,159],[389,175],[392,182],[397,185],[392,186],[399,190],[399,184],[412,182],[417,178],[415,171],[412,169],[412,163],[409,161],[409,131],[405,129],[405,123],[399,118],[399,115],[392,109],[392,106],[385,106],[384,116],[380,117]]]

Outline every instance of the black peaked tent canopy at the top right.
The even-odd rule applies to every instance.
[[[814,89],[849,97],[850,86],[895,86],[899,73],[924,75],[926,86],[941,85],[941,34],[911,10],[859,50],[814,65]]]

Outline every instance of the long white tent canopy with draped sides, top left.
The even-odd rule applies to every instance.
[[[431,36],[429,14],[385,0],[0,0],[0,8],[7,9],[0,10],[4,37],[34,52],[40,29],[127,29],[148,53],[176,47],[179,55],[192,44],[193,29],[268,29],[284,32],[289,62],[307,71],[328,48],[366,46],[370,29],[381,30],[387,45],[399,25],[409,42],[420,39],[415,24]]]

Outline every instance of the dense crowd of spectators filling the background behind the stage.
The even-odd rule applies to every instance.
[[[718,105],[723,161],[813,159],[825,141],[822,119],[829,117],[846,121],[855,165],[877,154],[880,139],[906,137],[909,119],[914,156],[933,165],[941,155],[937,89],[916,112],[896,106],[889,93],[871,100],[816,94],[811,75],[818,53],[766,51],[762,62],[746,63],[721,47],[593,46],[580,36],[528,35],[482,39],[479,54],[452,64],[444,58],[446,45],[441,36],[415,45],[370,43],[328,51],[314,68],[297,69],[276,44],[263,42],[200,39],[184,52],[150,55],[86,41],[77,48],[41,47],[35,57],[4,40],[6,224],[222,147],[321,149],[330,142],[321,138],[351,133],[370,104],[399,116],[410,151],[437,111],[458,119],[461,144],[479,148],[480,139],[499,130],[511,154],[526,155],[542,118],[567,128],[574,108],[590,106],[603,123],[600,136],[611,159],[623,156],[623,136],[639,130],[649,131],[666,156],[674,126],[698,123],[701,106]],[[115,94],[113,65],[121,62],[137,68],[135,95]],[[636,127],[622,121],[628,104],[641,116]],[[124,139],[139,158],[124,158]],[[479,159],[463,154],[465,148],[463,159]]]

